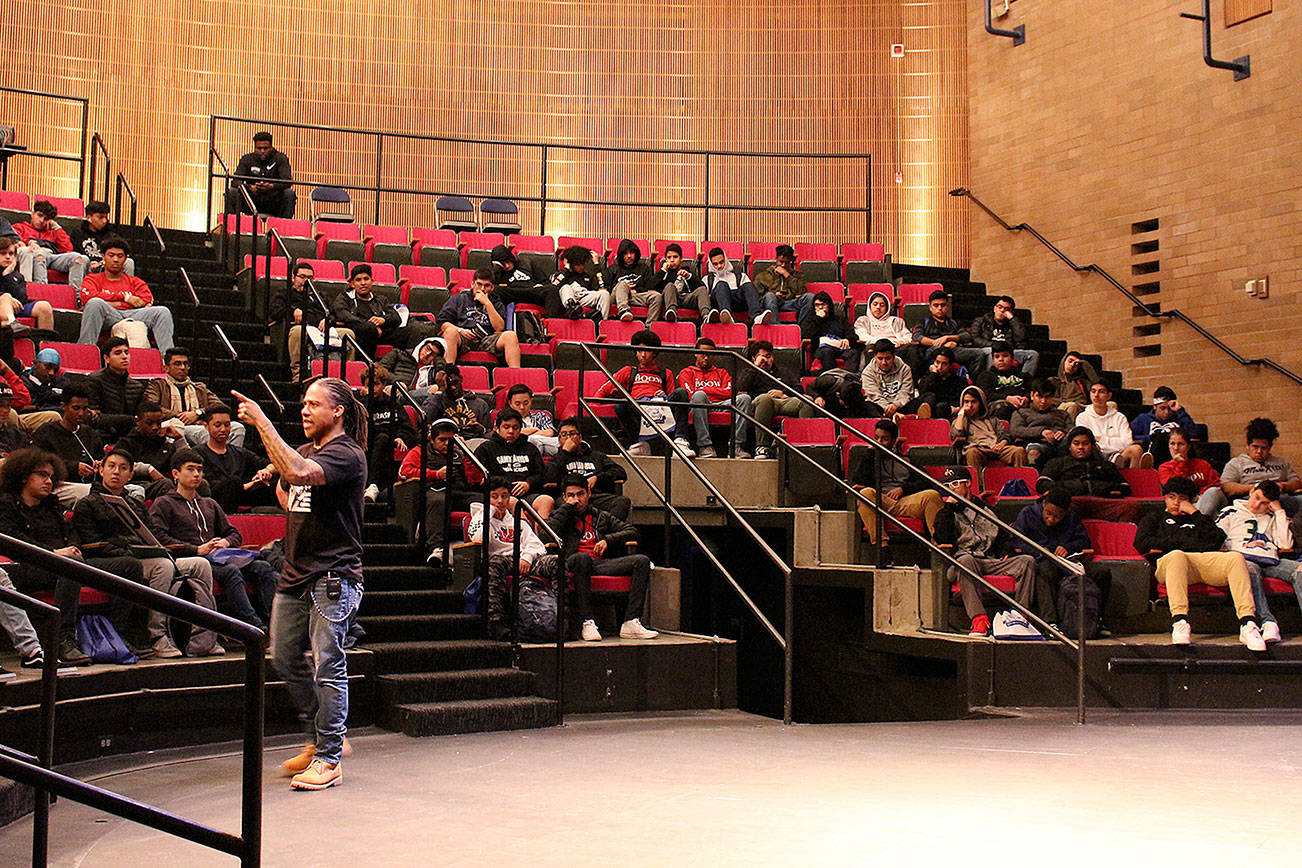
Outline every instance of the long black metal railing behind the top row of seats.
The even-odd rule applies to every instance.
[[[538,217],[538,233],[542,236],[552,234],[547,230],[547,207],[548,204],[565,204],[565,206],[607,206],[607,207],[620,207],[646,211],[647,208],[672,208],[676,211],[689,211],[699,213],[702,217],[702,228],[698,230],[699,237],[710,238],[710,217],[713,212],[781,212],[781,213],[862,213],[863,215],[863,238],[872,237],[872,155],[871,154],[857,154],[857,152],[819,152],[819,154],[793,154],[793,152],[776,152],[776,151],[721,151],[721,150],[678,150],[678,148],[639,148],[639,147],[613,147],[613,146],[591,146],[591,144],[561,144],[551,142],[500,142],[492,139],[478,139],[470,137],[456,137],[456,135],[418,135],[411,133],[391,133],[384,130],[363,130],[355,128],[341,128],[341,126],[326,126],[319,124],[293,124],[288,121],[268,121],[251,117],[234,117],[229,115],[214,115],[208,118],[208,178],[207,178],[207,211],[206,215],[212,215],[212,195],[214,195],[214,181],[223,181],[223,194],[229,189],[230,183],[243,181],[264,181],[266,178],[255,176],[237,176],[232,174],[230,168],[227,165],[225,160],[217,154],[217,124],[234,124],[241,126],[256,126],[259,129],[288,129],[288,130],[311,130],[319,134],[341,134],[341,135],[361,135],[367,141],[374,142],[375,152],[375,183],[342,183],[333,177],[316,178],[311,181],[296,180],[281,183],[289,183],[296,187],[315,187],[320,185],[339,187],[342,190],[349,190],[353,193],[368,193],[375,195],[375,208],[374,217],[376,224],[383,224],[383,198],[388,195],[402,195],[402,197],[427,197],[435,199],[443,195],[460,195],[474,199],[483,198],[506,198],[513,202],[529,202],[539,206]],[[490,193],[486,190],[430,190],[430,189],[411,189],[411,187],[398,187],[398,186],[385,186],[383,180],[385,177],[385,141],[395,142],[437,142],[448,146],[495,146],[503,148],[518,150],[526,154],[534,154],[538,157],[538,177],[527,187],[513,190],[510,193]],[[352,147],[349,150],[353,150]],[[389,152],[409,152],[408,147],[388,148]],[[638,200],[615,200],[615,199],[589,199],[589,198],[570,198],[559,197],[555,193],[555,183],[548,181],[548,168],[552,164],[552,155],[562,154],[569,155],[564,159],[565,164],[573,164],[575,161],[574,155],[590,156],[602,154],[617,154],[617,155],[661,155],[664,157],[672,157],[676,165],[680,165],[682,160],[694,160],[695,170],[699,170],[703,182],[698,189],[693,189],[691,193],[695,198],[684,202],[638,202]],[[859,190],[857,186],[853,193],[855,195],[862,193],[862,204],[853,206],[772,206],[772,204],[737,204],[736,202],[719,202],[712,199],[712,194],[717,193],[711,189],[711,160],[717,163],[719,159],[749,159],[755,161],[766,161],[769,169],[776,170],[789,169],[793,161],[797,160],[852,160],[863,163],[863,187]],[[220,163],[221,172],[216,170],[214,160]],[[521,157],[521,163],[525,164],[526,160]],[[694,176],[693,169],[680,169],[680,177]],[[763,170],[756,167],[756,170]],[[846,187],[849,193],[850,189]],[[221,212],[225,211],[225,204],[223,200]],[[256,208],[250,206],[250,212],[255,213]]]

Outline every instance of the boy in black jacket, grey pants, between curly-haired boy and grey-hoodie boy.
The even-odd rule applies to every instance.
[[[73,528],[82,540],[82,552],[92,557],[122,557],[139,561],[145,582],[161,593],[172,593],[177,576],[189,579],[197,586],[195,603],[215,609],[212,601],[212,566],[202,557],[178,557],[173,561],[164,552],[142,553],[138,537],[104,501],[104,495],[113,495],[126,501],[142,524],[148,523],[145,500],[126,489],[132,480],[134,455],[121,446],[104,457],[99,478],[91,485],[90,495],[77,501],[73,509]],[[94,541],[90,541],[94,540]],[[167,616],[150,612],[150,644],[156,657],[180,657],[177,648],[167,635]],[[224,655],[225,649],[216,644],[211,630],[194,630],[186,645],[191,657]]]

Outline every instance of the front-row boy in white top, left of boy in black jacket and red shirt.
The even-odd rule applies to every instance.
[[[527,521],[519,522],[519,563],[516,556],[516,517],[512,513],[510,483],[504,476],[488,478],[488,632],[504,642],[510,636],[514,613],[509,610],[510,579],[518,566],[521,578],[534,575],[551,584],[556,578],[557,556],[548,554]],[[467,543],[482,543],[484,536],[483,501],[470,504]]]

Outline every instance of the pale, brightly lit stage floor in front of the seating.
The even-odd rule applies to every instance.
[[[1302,713],[1092,712],[784,727],[740,712],[574,717],[431,739],[367,730],[345,783],[290,793],[270,750],[266,865],[1289,864]],[[277,744],[286,744],[277,739]],[[238,830],[238,757],[74,773]],[[31,819],[0,829],[26,864]],[[53,865],[236,860],[68,802]]]

